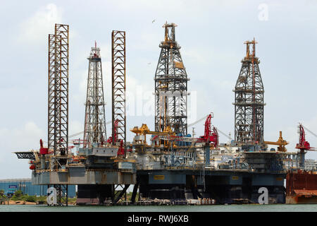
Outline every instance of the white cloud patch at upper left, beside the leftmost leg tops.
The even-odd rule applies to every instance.
[[[61,23],[62,11],[55,4],[42,6],[34,15],[20,23],[18,42],[44,42],[47,35],[54,33],[54,24]]]

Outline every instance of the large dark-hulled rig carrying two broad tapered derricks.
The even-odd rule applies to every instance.
[[[259,188],[266,186],[271,200],[285,202],[285,154],[266,151],[263,143],[263,84],[255,41],[246,42],[247,56],[235,88],[236,142],[219,145],[218,131],[211,125],[213,114],[205,121],[204,136],[192,138],[187,134],[189,79],[175,40],[175,26],[163,26],[165,36],[159,46],[155,131],[146,124],[131,130],[136,136],[129,155],[137,156],[139,193],[151,199],[213,198],[218,203],[257,203]],[[147,134],[151,135],[149,145]]]

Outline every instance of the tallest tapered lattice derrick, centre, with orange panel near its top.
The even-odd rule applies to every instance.
[[[155,73],[155,130],[187,134],[187,73],[175,40],[175,23],[166,23]]]

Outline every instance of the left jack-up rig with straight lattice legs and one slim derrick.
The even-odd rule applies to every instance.
[[[125,51],[119,52],[120,57],[125,59]],[[55,35],[49,35],[49,146],[44,148],[41,142],[39,152],[15,153],[18,158],[30,159],[32,184],[56,188],[57,205],[63,204],[63,196],[66,196],[68,204],[70,184],[77,185],[78,205],[103,205],[105,202],[116,204],[130,184],[136,181],[134,160],[122,158],[124,143],[117,145],[108,143],[106,139],[101,54],[97,44],[88,60],[84,140],[82,143],[76,141],[78,145],[83,144],[81,148],[78,147],[77,155],[68,151],[73,148],[68,147],[68,25],[58,24],[55,25]],[[113,64],[117,63],[113,61]],[[122,68],[118,71],[122,71]],[[125,78],[118,77],[125,83]],[[125,88],[121,91],[125,91]],[[118,93],[115,95],[118,97]],[[120,110],[125,112],[125,98],[117,102]],[[125,134],[125,114],[118,115],[122,118],[115,117],[114,120],[118,122],[116,131],[120,140],[117,138],[117,141],[125,141],[125,136],[122,136],[122,131]],[[124,186],[123,191],[116,192],[116,186]]]

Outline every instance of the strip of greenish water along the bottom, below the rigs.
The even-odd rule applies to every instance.
[[[1,205],[0,212],[317,212],[317,204],[223,206],[37,206]]]

